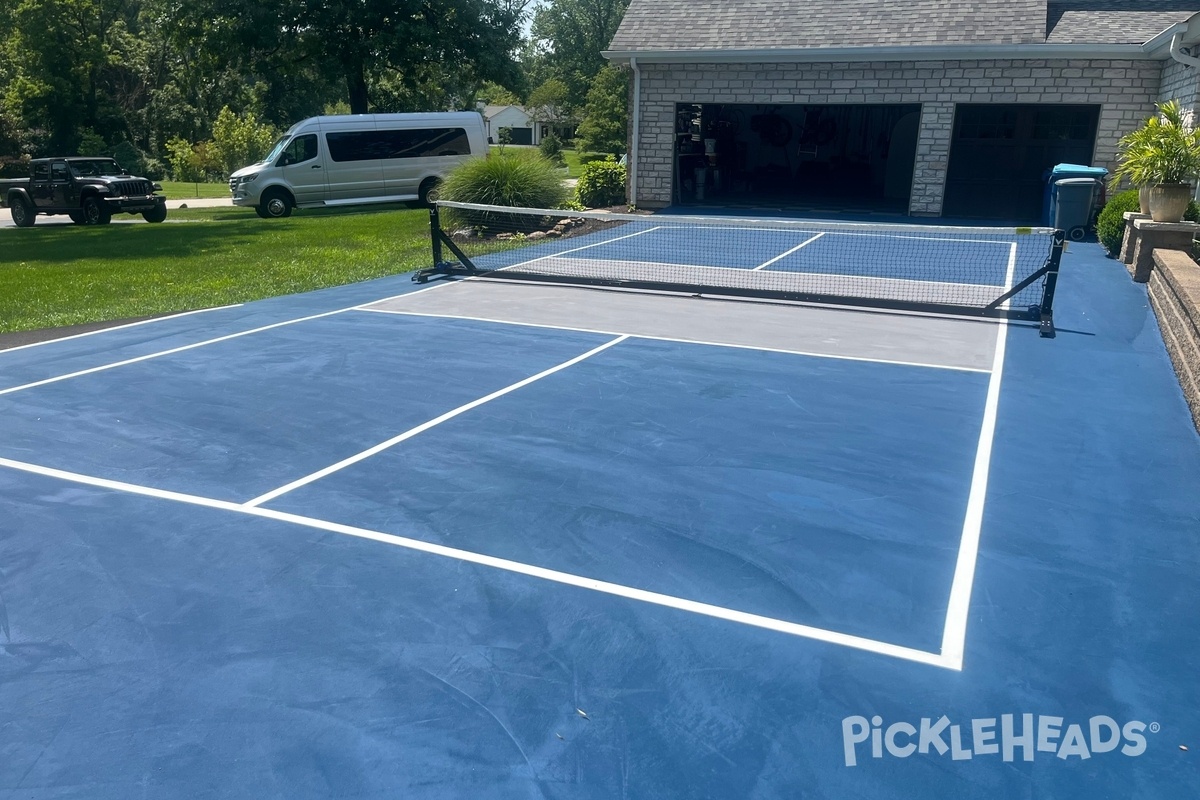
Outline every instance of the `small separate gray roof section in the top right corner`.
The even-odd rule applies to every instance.
[[[1141,44],[1198,11],[1198,0],[1050,0],[1046,41]]]

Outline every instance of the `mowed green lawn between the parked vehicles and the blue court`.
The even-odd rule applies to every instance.
[[[0,332],[146,317],[430,266],[428,212],[172,211],[162,224],[0,229]]]

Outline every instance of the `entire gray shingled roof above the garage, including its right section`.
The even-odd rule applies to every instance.
[[[1193,7],[1200,0],[632,0],[610,49],[1140,44]]]

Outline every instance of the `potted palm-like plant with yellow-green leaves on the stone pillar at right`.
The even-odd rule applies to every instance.
[[[1183,119],[1178,101],[1158,104],[1158,115],[1117,143],[1114,186],[1123,180],[1138,187],[1142,213],[1154,222],[1178,222],[1200,176],[1200,131]]]

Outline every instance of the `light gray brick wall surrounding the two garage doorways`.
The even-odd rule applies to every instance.
[[[1180,65],[1182,66],[1182,65]],[[1116,143],[1154,110],[1160,61],[875,61],[642,65],[638,205],[672,196],[676,103],[920,103],[908,211],[942,212],[955,103],[1098,103],[1093,163],[1111,169]]]

